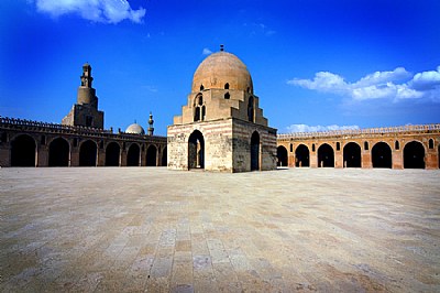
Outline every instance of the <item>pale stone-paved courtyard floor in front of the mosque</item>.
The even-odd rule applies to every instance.
[[[440,291],[440,171],[0,169],[0,291]]]

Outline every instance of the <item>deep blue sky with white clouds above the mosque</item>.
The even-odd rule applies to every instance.
[[[89,62],[105,127],[166,134],[224,44],[278,133],[440,122],[438,0],[1,0],[0,115],[61,122]]]

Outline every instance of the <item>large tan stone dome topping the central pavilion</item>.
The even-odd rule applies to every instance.
[[[252,94],[252,77],[241,59],[220,51],[206,57],[193,77],[193,93],[211,88],[239,89]]]

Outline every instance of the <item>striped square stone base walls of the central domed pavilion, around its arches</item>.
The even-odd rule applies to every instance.
[[[276,169],[276,130],[232,118],[169,126],[168,169],[188,170],[188,140],[195,130],[204,135],[207,171],[251,171],[251,137],[255,131],[260,137],[260,170]]]

